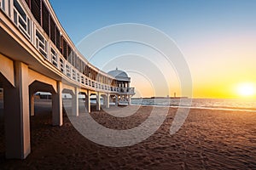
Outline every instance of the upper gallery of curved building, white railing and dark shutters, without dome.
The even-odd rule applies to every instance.
[[[37,6],[38,2],[41,4],[40,7]],[[67,33],[60,26],[55,14],[49,12],[53,9],[48,1],[0,0],[0,8],[44,56],[45,62],[54,65],[61,71],[63,77],[79,83],[84,88],[113,93],[120,92],[114,77],[90,65],[74,48],[73,42],[67,37]],[[41,10],[40,16],[35,8]],[[60,34],[58,34],[59,32]]]

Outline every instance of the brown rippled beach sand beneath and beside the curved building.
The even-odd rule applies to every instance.
[[[36,116],[31,116],[32,152],[22,161],[4,158],[1,110],[0,169],[256,168],[256,112],[192,109],[183,127],[170,135],[177,111],[171,108],[165,122],[148,139],[114,148],[84,138],[65,114],[62,127],[51,126],[47,102],[36,102],[35,109]],[[93,108],[90,115],[105,127],[126,129],[145,121],[150,111],[152,107],[142,106],[133,116],[121,118]]]

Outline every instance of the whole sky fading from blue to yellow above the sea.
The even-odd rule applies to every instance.
[[[79,46],[84,37],[106,26],[122,23],[152,26],[171,37],[183,54],[191,73],[193,97],[256,99],[255,0],[50,0],[50,3],[75,45]],[[122,57],[116,59],[117,56]],[[183,93],[175,65],[170,71],[156,66],[164,72],[164,78],[159,80],[166,81],[167,88],[150,78],[155,75],[148,73],[151,67],[144,61],[153,59],[157,63],[162,58],[152,48],[123,42],[102,48],[89,61],[103,71],[115,67],[127,71],[137,95],[187,95]],[[140,64],[145,74],[129,71],[125,67],[128,64],[120,64],[127,59]]]

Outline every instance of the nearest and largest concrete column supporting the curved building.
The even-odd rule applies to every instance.
[[[4,88],[4,123],[7,158],[25,159],[30,148],[28,66],[15,62],[15,88]]]

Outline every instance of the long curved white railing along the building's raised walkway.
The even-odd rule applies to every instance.
[[[54,65],[62,74],[85,87],[101,89],[106,92],[119,92],[119,88],[102,82],[96,82],[90,79],[90,77],[84,76],[73,65],[68,63],[55,47],[55,44],[50,41],[43,28],[39,26],[38,21],[34,19],[31,13],[26,12],[28,9],[24,6],[25,4],[26,2],[21,0],[0,0],[0,9],[9,15],[15,26],[32,42],[34,47],[44,56],[44,59],[49,61],[51,65]]]

